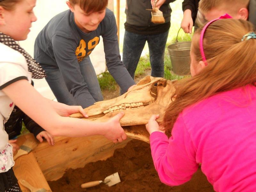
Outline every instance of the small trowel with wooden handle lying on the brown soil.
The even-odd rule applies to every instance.
[[[81,185],[81,188],[93,187],[93,186],[96,186],[96,185],[100,185],[100,183],[104,183],[104,184],[108,185],[108,187],[110,187],[110,186],[113,186],[113,185],[115,185],[116,183],[119,183],[119,182],[121,182],[121,181],[120,181],[118,172],[116,172],[116,173],[106,177],[104,179],[104,181],[101,180],[101,181],[91,181],[91,182],[83,183]]]

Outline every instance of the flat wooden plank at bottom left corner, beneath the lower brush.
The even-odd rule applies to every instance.
[[[20,156],[16,159],[13,171],[18,180],[24,179],[35,188],[45,188],[46,190],[51,191],[33,153]],[[20,188],[23,192],[30,192],[28,188],[21,184]]]

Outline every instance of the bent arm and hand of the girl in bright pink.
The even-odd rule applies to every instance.
[[[156,171],[166,185],[181,185],[190,180],[198,168],[196,150],[181,116],[169,140],[159,131],[156,117],[152,116],[147,125],[147,130],[151,132],[150,147]]]

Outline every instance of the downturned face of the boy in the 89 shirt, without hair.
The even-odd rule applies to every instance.
[[[69,8],[74,13],[76,25],[85,33],[96,30],[106,14],[106,9],[85,13],[77,4]]]

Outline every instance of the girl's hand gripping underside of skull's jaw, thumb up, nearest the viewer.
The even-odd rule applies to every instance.
[[[124,112],[118,113],[107,122],[106,133],[103,134],[107,139],[113,140],[114,143],[122,142],[127,139],[124,129],[121,127],[119,121],[124,116]]]

